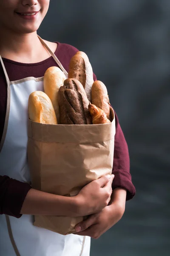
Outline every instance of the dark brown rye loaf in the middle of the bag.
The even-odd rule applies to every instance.
[[[66,79],[58,93],[60,124],[90,125],[89,101],[85,89],[77,79]]]

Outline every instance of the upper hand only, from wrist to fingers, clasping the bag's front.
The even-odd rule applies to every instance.
[[[110,202],[114,175],[105,175],[83,187],[75,196],[78,215],[85,216],[101,212]]]

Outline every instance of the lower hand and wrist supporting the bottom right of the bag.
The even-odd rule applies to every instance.
[[[75,227],[80,236],[90,236],[98,239],[103,233],[116,224],[125,212],[126,190],[115,189],[113,202],[106,206],[102,212],[90,215],[85,221]]]

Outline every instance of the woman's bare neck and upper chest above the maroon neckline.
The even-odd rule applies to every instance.
[[[3,58],[23,63],[34,63],[42,60],[42,52],[45,52],[45,58],[49,57],[37,37],[37,32],[16,34],[0,29],[0,33],[3,35],[0,38],[0,55]]]

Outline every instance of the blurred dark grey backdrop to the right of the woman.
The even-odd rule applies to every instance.
[[[170,0],[51,0],[39,35],[87,53],[129,146],[136,196],[91,256],[170,255]]]

